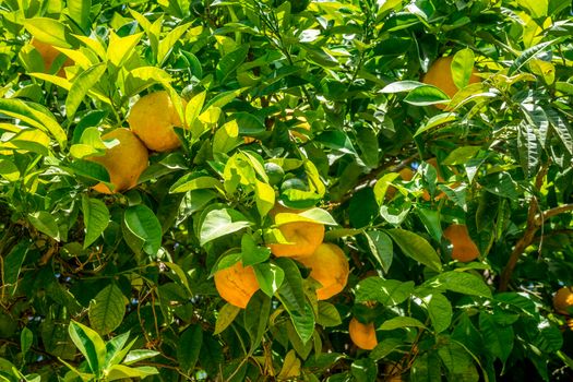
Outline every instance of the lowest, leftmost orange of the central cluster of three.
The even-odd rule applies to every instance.
[[[215,272],[215,287],[225,301],[242,309],[260,288],[253,267],[243,267],[240,261]]]

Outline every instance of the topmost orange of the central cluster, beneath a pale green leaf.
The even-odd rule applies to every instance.
[[[271,243],[271,252],[278,258],[310,256],[324,239],[324,226],[312,222],[291,222],[278,227],[288,242]]]

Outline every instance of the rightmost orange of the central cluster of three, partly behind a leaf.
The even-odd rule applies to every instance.
[[[350,265],[338,246],[322,243],[312,255],[296,260],[310,268],[310,277],[322,285],[317,289],[319,300],[327,300],[346,287]]]

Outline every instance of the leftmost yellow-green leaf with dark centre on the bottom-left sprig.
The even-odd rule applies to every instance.
[[[87,360],[89,370],[96,375],[102,375],[102,368],[106,360],[106,344],[102,337],[95,331],[73,320],[70,321],[68,333]]]

